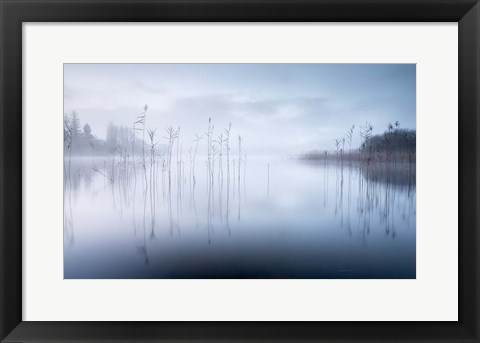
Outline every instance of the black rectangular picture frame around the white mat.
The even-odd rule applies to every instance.
[[[478,0],[0,0],[0,340],[480,342]],[[23,22],[458,22],[457,322],[22,321]],[[439,302],[442,299],[438,299]],[[321,309],[319,309],[321,310]],[[412,311],[415,309],[412,308]]]

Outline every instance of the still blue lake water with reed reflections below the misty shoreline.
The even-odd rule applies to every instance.
[[[415,278],[415,165],[232,162],[65,159],[64,277]]]

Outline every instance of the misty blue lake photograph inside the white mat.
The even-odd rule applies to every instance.
[[[415,69],[65,64],[64,278],[415,279]]]

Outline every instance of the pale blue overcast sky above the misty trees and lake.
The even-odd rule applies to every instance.
[[[355,125],[415,129],[414,64],[65,64],[64,111],[105,138],[109,122],[131,127],[148,104],[147,128],[163,142],[181,127],[188,148],[212,118],[232,123],[248,154],[334,149]]]

